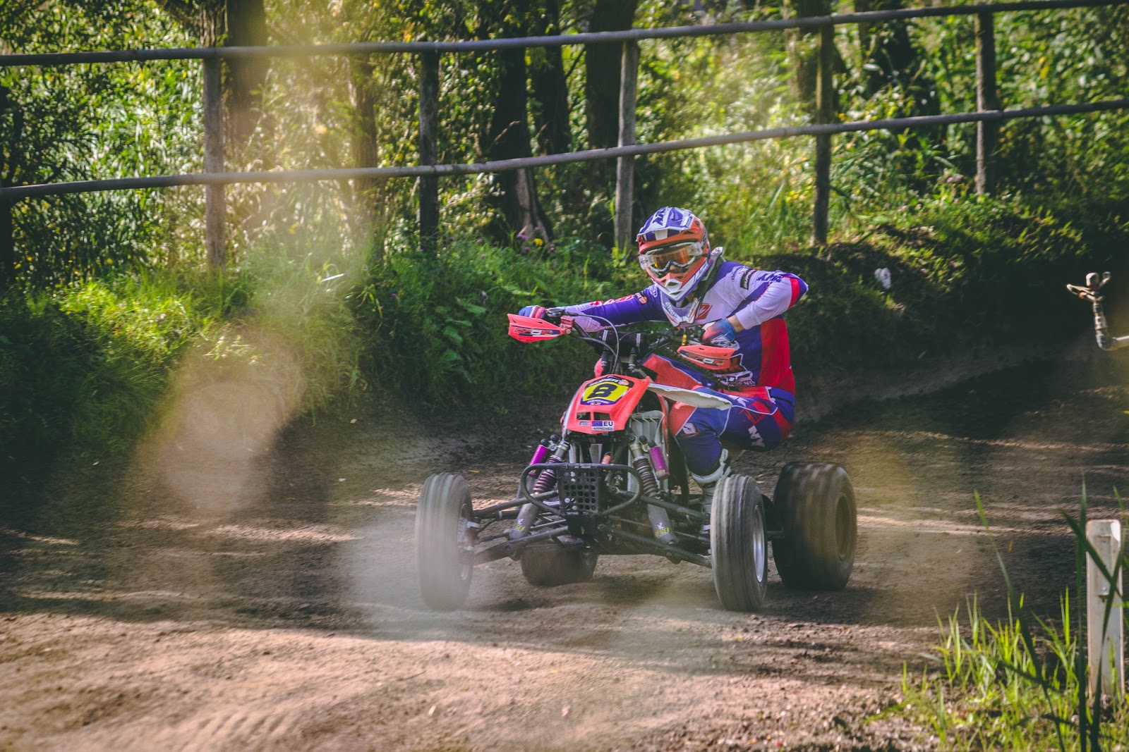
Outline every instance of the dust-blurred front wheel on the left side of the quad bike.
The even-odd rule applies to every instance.
[[[471,489],[461,476],[439,472],[423,483],[415,507],[415,569],[423,602],[453,611],[466,601],[474,567],[464,552],[473,548]]]

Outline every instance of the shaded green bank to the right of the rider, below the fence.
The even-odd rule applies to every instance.
[[[829,369],[896,366],[922,353],[1068,336],[1086,320],[1060,292],[1062,281],[1111,263],[1129,241],[1124,205],[1067,214],[940,194],[870,223],[863,239],[819,255],[727,254],[808,283],[788,313],[802,383]],[[889,291],[874,276],[883,267],[891,271]]]

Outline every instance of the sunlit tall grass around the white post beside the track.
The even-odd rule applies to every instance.
[[[979,496],[977,505],[983,520]],[[1079,643],[1085,639],[1082,583],[1086,559],[1097,561],[1111,583],[1119,581],[1123,560],[1108,570],[1086,540],[1085,487],[1079,517],[1064,516],[1077,542],[1073,610],[1067,591],[1057,621],[1027,614],[1000,559],[1008,591],[1007,620],[989,623],[972,600],[963,622],[956,612],[942,625],[940,643],[928,656],[936,667],[919,676],[908,670],[903,673],[903,701],[895,711],[930,729],[942,749],[1085,752],[1129,745],[1129,706],[1087,698],[1086,656]],[[1112,602],[1108,601],[1106,617]]]

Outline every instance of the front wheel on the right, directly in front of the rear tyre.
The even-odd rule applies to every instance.
[[[769,554],[764,497],[747,476],[717,484],[710,510],[714,589],[729,611],[753,611],[764,603]]]

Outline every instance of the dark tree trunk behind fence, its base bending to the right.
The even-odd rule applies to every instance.
[[[498,90],[489,132],[490,159],[530,156],[530,126],[525,77],[525,50],[499,50]],[[549,227],[537,203],[533,171],[510,170],[498,175],[501,209],[511,229],[533,238],[540,229],[548,237]]]

